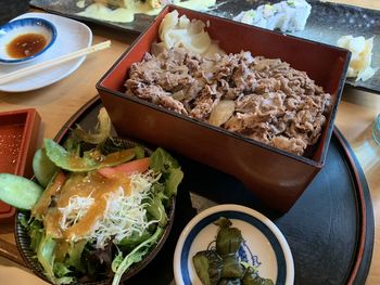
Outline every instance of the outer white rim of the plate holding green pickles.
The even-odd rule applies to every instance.
[[[203,218],[210,216],[211,213],[219,212],[219,211],[226,211],[226,210],[233,210],[233,211],[240,211],[243,213],[251,215],[262,221],[265,225],[268,226],[268,229],[275,234],[276,238],[278,239],[281,249],[286,259],[286,270],[287,270],[287,280],[286,285],[292,285],[294,283],[294,263],[293,263],[293,256],[290,250],[289,244],[284,236],[282,235],[281,231],[277,228],[277,225],[270,221],[267,217],[265,217],[263,213],[251,209],[245,206],[236,205],[236,204],[224,204],[224,205],[217,205],[214,207],[211,207],[208,209],[205,209],[204,211],[201,211],[198,213],[194,218],[191,219],[191,221],[185,226],[181,234],[179,235],[174,259],[173,259],[173,269],[174,269],[174,276],[175,282],[177,285],[185,285],[182,282],[182,274],[180,273],[180,255],[183,248],[183,243],[186,241],[186,237],[188,236],[189,232],[195,226],[195,224],[202,220]]]

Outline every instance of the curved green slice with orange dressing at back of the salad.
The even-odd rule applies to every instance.
[[[98,151],[86,153],[83,157],[67,152],[63,146],[50,139],[45,139],[45,148],[51,161],[58,167],[73,171],[91,171],[104,167],[112,167],[131,160],[136,156],[136,148],[123,150],[106,156]]]

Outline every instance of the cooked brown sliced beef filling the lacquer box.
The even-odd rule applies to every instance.
[[[182,48],[147,53],[125,86],[130,95],[204,121],[220,100],[233,100],[223,128],[296,155],[318,141],[331,98],[306,73],[244,51],[214,57]]]

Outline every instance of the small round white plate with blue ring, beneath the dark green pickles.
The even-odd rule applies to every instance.
[[[214,222],[228,218],[238,228],[244,242],[239,249],[241,261],[258,268],[262,277],[275,284],[292,285],[294,264],[289,245],[280,230],[262,213],[239,205],[219,205],[197,215],[183,229],[174,255],[174,275],[177,285],[201,285],[192,257],[206,250],[215,241],[218,226]]]

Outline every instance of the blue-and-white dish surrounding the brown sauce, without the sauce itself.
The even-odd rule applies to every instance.
[[[39,52],[23,59],[12,57],[7,46],[25,34],[38,34],[46,38],[46,46]],[[0,64],[21,64],[26,63],[43,54],[50,47],[53,46],[56,39],[56,29],[52,23],[43,18],[28,17],[9,22],[0,27]]]

